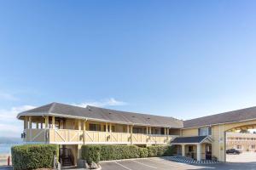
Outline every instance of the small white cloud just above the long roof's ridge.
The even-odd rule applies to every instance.
[[[89,102],[83,102],[80,104],[72,104],[72,105],[76,105],[79,107],[86,107],[87,105],[92,105],[92,106],[96,106],[96,107],[106,107],[106,106],[113,106],[113,105],[127,105],[126,102],[124,101],[119,101],[117,99],[103,99],[101,101],[89,101]]]

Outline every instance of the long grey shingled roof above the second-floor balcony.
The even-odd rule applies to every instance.
[[[22,116],[66,116],[99,122],[116,122],[152,127],[183,127],[183,121],[173,117],[115,111],[95,106],[87,106],[84,108],[60,103],[51,103],[29,111],[24,111],[17,117],[21,119]]]

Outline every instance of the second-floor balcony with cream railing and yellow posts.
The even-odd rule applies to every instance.
[[[36,117],[33,118],[37,120]],[[138,127],[110,122],[83,122],[68,119],[64,122],[55,117],[45,118],[44,123],[27,117],[22,137],[26,143],[46,144],[169,144],[178,136],[166,127]],[[162,132],[161,132],[162,131]],[[161,134],[163,133],[163,134]]]

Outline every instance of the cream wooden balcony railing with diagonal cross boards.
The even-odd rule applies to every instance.
[[[24,141],[48,144],[169,144],[177,135],[109,133],[69,129],[26,129]]]

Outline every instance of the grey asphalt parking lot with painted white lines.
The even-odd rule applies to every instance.
[[[102,170],[189,170],[189,169],[250,169],[256,170],[256,162],[247,163],[218,163],[212,165],[189,165],[162,158],[147,158],[125,161],[109,161],[101,163]]]

